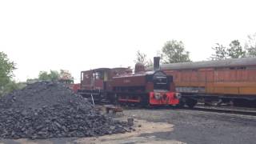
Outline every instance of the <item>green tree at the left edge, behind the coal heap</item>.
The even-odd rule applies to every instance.
[[[0,52],[0,96],[15,88],[15,82],[12,80],[15,69],[15,63],[10,61],[5,53]]]

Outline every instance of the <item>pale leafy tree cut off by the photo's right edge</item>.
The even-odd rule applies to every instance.
[[[256,57],[256,33],[253,35],[248,35],[245,48],[247,50],[247,57]]]

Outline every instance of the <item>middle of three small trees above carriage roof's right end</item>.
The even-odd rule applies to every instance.
[[[227,51],[230,58],[244,58],[246,56],[246,51],[242,49],[238,40],[230,42],[230,47]]]

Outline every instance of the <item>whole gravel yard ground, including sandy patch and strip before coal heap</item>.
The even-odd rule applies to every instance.
[[[135,132],[98,138],[2,140],[0,143],[255,143],[256,117],[178,109],[130,109],[118,118],[135,118]]]

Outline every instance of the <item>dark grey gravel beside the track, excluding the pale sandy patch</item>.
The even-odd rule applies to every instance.
[[[252,116],[195,110],[126,110],[125,113],[150,122],[174,125],[173,131],[154,133],[157,138],[195,144],[240,144],[256,141],[256,117]]]

